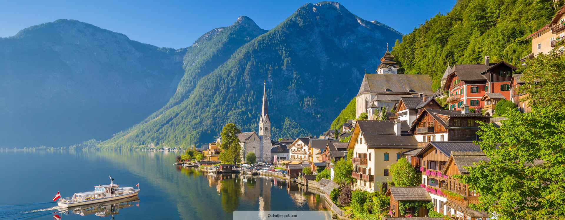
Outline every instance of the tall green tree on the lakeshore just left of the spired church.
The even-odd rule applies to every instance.
[[[240,129],[236,124],[229,123],[221,129],[221,149],[224,150],[220,153],[220,160],[222,163],[237,164],[240,162],[241,145]]]

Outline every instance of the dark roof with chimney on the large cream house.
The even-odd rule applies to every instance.
[[[358,120],[357,127],[363,133],[364,140],[370,149],[415,149],[418,141],[408,133],[408,123],[405,121],[401,122],[401,136],[396,136],[393,123],[393,120]]]

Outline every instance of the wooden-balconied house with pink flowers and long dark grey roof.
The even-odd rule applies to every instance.
[[[481,147],[470,141],[429,142],[423,149],[414,155],[423,167],[421,187],[424,187],[432,197],[433,210],[446,214],[445,203],[447,196],[441,189],[445,186],[447,177],[442,173],[451,151],[458,152],[482,152]]]

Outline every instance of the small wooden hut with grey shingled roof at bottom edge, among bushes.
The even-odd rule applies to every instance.
[[[405,210],[403,210],[404,214],[402,214],[400,210],[400,203],[410,203],[411,201],[421,201],[425,203],[432,201],[432,197],[430,197],[428,192],[422,187],[392,186],[386,191],[385,195],[390,197],[390,210],[393,212],[393,217],[405,217],[408,214],[411,214],[413,217],[427,217],[428,215],[428,209],[425,207],[418,208],[418,215],[416,215],[416,208],[414,207],[405,208]]]

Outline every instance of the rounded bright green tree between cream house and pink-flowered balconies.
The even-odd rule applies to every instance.
[[[419,186],[421,181],[421,176],[416,173],[406,158],[400,158],[396,163],[390,165],[390,173],[394,186]]]

